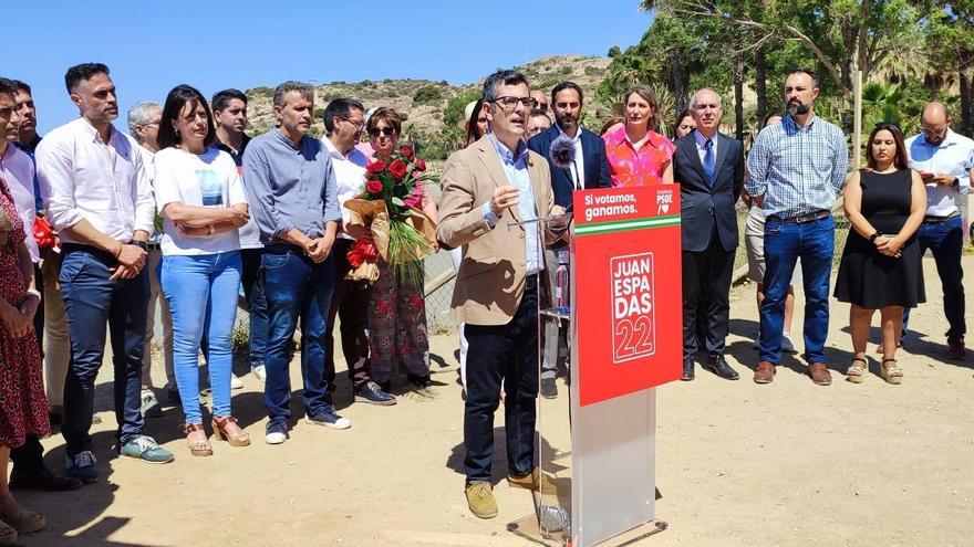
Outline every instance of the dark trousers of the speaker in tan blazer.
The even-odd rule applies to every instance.
[[[508,473],[535,467],[535,401],[538,397],[538,288],[529,282],[507,325],[464,327],[467,353],[467,400],[464,406],[464,471],[467,482],[490,481],[494,412],[504,381],[504,429]]]

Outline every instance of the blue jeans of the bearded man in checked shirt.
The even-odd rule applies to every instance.
[[[829,274],[836,249],[832,217],[804,224],[768,219],[765,223],[765,299],[760,305],[760,360],[774,365],[781,356],[785,297],[795,263],[801,259],[805,281],[805,358],[825,362],[829,333]]]

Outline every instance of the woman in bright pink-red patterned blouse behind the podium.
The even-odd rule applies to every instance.
[[[652,186],[673,182],[673,152],[676,147],[653,130],[656,95],[644,85],[625,94],[623,123],[603,137],[613,187]]]

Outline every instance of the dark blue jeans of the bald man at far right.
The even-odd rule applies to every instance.
[[[920,255],[926,250],[933,252],[936,274],[944,292],[944,316],[950,329],[947,339],[964,338],[967,323],[964,320],[964,270],[961,269],[961,250],[964,246],[964,227],[961,217],[946,222],[924,222],[916,230],[920,242]],[[906,336],[906,324],[910,322],[910,308],[903,309],[903,336]]]

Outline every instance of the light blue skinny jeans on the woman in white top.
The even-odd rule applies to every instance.
[[[230,415],[231,334],[237,318],[240,253],[163,256],[160,283],[173,315],[173,368],[186,423],[203,423],[199,408],[199,346],[206,333],[206,364],[215,418]]]

